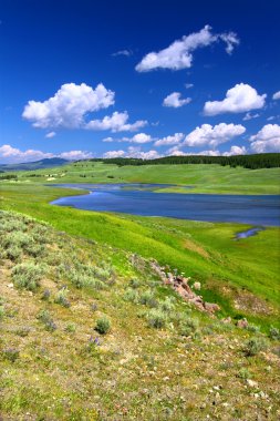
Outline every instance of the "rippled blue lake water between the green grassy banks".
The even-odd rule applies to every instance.
[[[117,212],[179,219],[235,222],[258,226],[280,225],[280,195],[217,195],[155,193],[162,184],[60,184],[84,188],[87,195],[61,197],[53,205],[85,210]]]

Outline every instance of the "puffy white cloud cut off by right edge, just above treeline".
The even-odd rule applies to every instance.
[[[280,125],[267,124],[249,141],[255,153],[280,152]]]

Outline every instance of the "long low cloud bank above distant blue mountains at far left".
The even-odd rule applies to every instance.
[[[37,150],[21,151],[17,147],[12,147],[11,145],[0,146],[0,162],[6,164],[33,162],[54,156],[62,157],[64,160],[86,160],[93,157],[93,153],[86,151],[69,151],[54,154],[51,152],[42,152]]]

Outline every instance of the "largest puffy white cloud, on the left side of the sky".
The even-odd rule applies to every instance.
[[[95,89],[85,83],[65,83],[44,102],[29,101],[22,116],[34,127],[79,129],[83,126],[87,113],[113,105],[114,96],[115,93],[102,83]]]

